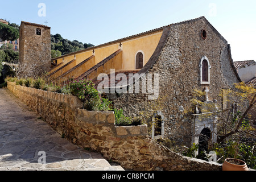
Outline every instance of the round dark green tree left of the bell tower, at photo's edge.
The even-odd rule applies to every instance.
[[[16,40],[19,38],[19,31],[7,24],[0,23],[0,39],[2,40]]]

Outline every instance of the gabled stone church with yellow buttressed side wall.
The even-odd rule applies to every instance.
[[[113,69],[115,75],[138,73],[131,82],[128,79],[123,82],[122,77],[126,84],[121,84],[121,88],[129,90],[139,82],[139,92],[109,94],[114,106],[122,108],[129,117],[138,116],[150,101],[148,96],[152,92],[148,85],[143,92],[142,78],[154,75],[152,83],[159,81],[159,84],[152,87],[158,88],[157,98],[164,98],[164,109],[152,116],[153,121],[154,117],[160,117],[162,123],[160,131],[157,134],[152,131],[150,135],[187,146],[199,143],[204,135],[216,140],[216,117],[201,119],[204,113],[195,110],[189,119],[183,119],[184,111],[191,106],[193,90],[205,92],[204,100],[221,109],[221,90],[241,81],[233,65],[230,45],[204,16],[69,53],[52,59],[52,65],[48,77],[57,82],[87,78],[99,85],[104,77],[98,80],[98,76],[105,73],[112,80]],[[117,88],[120,81],[115,77],[114,85],[104,86]]]

